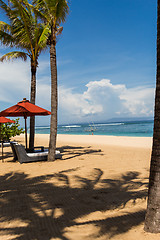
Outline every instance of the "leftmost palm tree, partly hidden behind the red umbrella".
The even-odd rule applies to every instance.
[[[35,104],[36,99],[36,71],[38,67],[38,57],[42,50],[47,47],[49,28],[38,22],[36,14],[27,0],[10,0],[6,5],[0,0],[0,7],[8,16],[9,24],[0,22],[0,41],[4,45],[22,49],[22,51],[12,51],[0,58],[0,61],[27,57],[31,61],[31,90],[30,101]],[[30,118],[30,141],[29,147],[34,147],[35,118]]]

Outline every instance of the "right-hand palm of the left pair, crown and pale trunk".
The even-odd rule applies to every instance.
[[[56,137],[57,137],[57,62],[56,42],[57,36],[62,32],[60,24],[65,22],[69,12],[66,0],[34,0],[35,12],[50,28],[48,44],[50,45],[50,68],[51,68],[51,122],[48,161],[55,160]]]

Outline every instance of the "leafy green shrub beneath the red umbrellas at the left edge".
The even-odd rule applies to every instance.
[[[1,140],[9,141],[11,137],[24,133],[23,128],[19,128],[19,118],[14,120],[15,123],[3,123],[1,124]]]

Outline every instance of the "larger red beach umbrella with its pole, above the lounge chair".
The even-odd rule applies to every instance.
[[[36,115],[50,115],[51,112],[38,107],[35,104],[32,104],[26,98],[23,98],[21,102],[18,102],[16,105],[9,107],[2,112],[0,112],[0,116],[4,117],[24,117],[25,119],[25,139],[26,139],[26,148],[27,148],[27,117],[32,117]]]

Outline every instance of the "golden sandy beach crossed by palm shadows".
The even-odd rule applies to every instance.
[[[36,135],[36,146],[48,142]],[[5,148],[0,239],[160,239],[143,230],[151,147],[149,137],[58,135],[61,160],[27,164]]]

